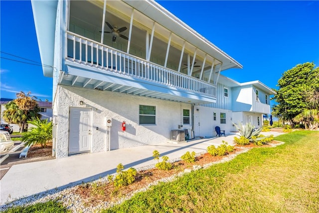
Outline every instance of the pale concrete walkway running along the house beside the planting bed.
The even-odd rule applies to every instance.
[[[282,133],[263,134],[277,136]],[[187,151],[205,152],[208,146],[217,147],[222,144],[223,140],[233,145],[232,141],[235,136],[196,138],[183,144],[162,143],[14,165],[0,180],[0,205],[22,197],[71,187],[115,174],[116,167],[120,163],[124,165],[125,169],[130,167],[138,169],[156,164],[157,161],[152,157],[154,150],[158,150],[160,156],[165,155],[172,160],[180,158]]]

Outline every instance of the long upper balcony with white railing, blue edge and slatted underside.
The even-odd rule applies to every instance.
[[[66,32],[59,83],[185,103],[216,102],[216,86]],[[67,74],[67,75],[66,75]]]

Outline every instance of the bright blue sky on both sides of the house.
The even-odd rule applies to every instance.
[[[282,73],[296,64],[319,65],[319,1],[158,2],[241,63],[243,69],[222,72],[238,82],[277,88]],[[1,0],[0,14],[0,97],[31,91],[52,101],[52,78],[34,65],[40,56],[30,1]]]

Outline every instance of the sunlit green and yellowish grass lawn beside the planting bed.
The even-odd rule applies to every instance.
[[[318,138],[315,131],[278,136],[275,140],[284,145],[252,149],[230,162],[160,183],[102,212],[318,213]],[[38,212],[66,212],[63,207],[53,209],[59,205],[50,201],[36,208],[42,208]],[[12,208],[10,213],[30,212],[25,209]]]

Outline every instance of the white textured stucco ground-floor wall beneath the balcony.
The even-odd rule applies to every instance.
[[[158,144],[170,140],[170,131],[183,123],[183,109],[190,104],[163,101],[107,91],[58,86],[56,157],[68,156],[69,108],[92,108],[91,152],[106,151],[106,117],[112,118],[111,150]],[[80,101],[84,105],[80,105]],[[157,125],[139,125],[139,105],[156,106]],[[126,131],[122,131],[122,122]],[[96,129],[98,127],[98,130]],[[181,129],[189,129],[184,125]]]

